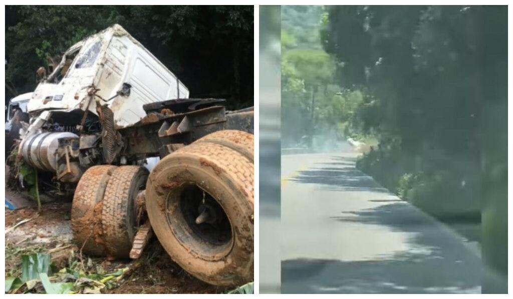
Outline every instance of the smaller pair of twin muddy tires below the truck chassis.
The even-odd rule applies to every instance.
[[[135,234],[137,192],[148,170],[139,166],[100,165],[89,168],[75,189],[71,228],[83,252],[127,258]]]

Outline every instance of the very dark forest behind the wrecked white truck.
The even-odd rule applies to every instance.
[[[253,6],[6,6],[6,104],[34,90],[47,56],[116,23],[190,97],[226,98],[230,109],[253,105]]]

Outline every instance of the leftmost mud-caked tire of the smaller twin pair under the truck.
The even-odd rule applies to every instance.
[[[76,245],[86,254],[105,255],[102,200],[116,168],[111,165],[90,167],[76,186],[71,207],[71,229]]]

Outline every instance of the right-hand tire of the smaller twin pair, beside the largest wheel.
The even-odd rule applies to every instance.
[[[148,170],[141,166],[116,168],[103,197],[103,240],[108,258],[128,258],[137,226],[137,194],[146,186]]]

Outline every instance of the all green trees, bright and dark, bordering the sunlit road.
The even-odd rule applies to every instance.
[[[507,7],[282,7],[282,144],[319,135],[507,276]]]

